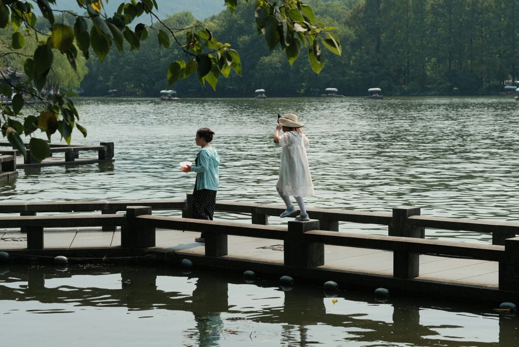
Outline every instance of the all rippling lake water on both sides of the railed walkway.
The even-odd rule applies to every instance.
[[[272,134],[277,114],[294,112],[311,141],[316,196],[306,199],[308,207],[390,212],[407,205],[421,207],[422,215],[519,221],[519,102],[511,98],[76,103],[89,135],[83,139],[75,132],[73,143],[113,141],[116,161],[20,169],[17,179],[0,182],[0,201],[184,198],[195,176],[184,174],[178,163],[193,161],[199,150],[195,132],[207,126],[216,132],[213,146],[221,158],[217,198],[282,204],[275,189],[280,150]],[[340,230],[387,233],[377,225],[341,224]],[[491,240],[457,231],[426,230],[426,235]],[[283,292],[276,282],[248,285],[241,278],[222,280],[222,290],[211,293],[216,279],[207,274],[111,268],[50,269],[36,275],[46,280],[33,291],[28,279],[33,270],[11,269],[0,278],[7,345],[46,339],[81,345],[91,330],[103,336],[96,340],[101,345],[151,345],[150,336],[157,337],[154,345],[516,346],[519,341],[517,318],[499,317],[477,303],[454,307],[405,298],[378,303],[372,292],[342,291],[334,304],[320,288]],[[133,285],[121,284],[125,276]],[[44,319],[40,313],[46,313]],[[24,335],[28,326],[36,329],[32,339]]]

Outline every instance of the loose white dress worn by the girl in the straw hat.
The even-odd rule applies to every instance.
[[[306,149],[310,141],[306,135],[296,131],[284,132],[279,137],[281,164],[276,185],[283,195],[312,196],[313,184]]]

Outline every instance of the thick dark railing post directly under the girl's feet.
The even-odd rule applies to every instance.
[[[324,244],[304,240],[304,233],[309,230],[319,230],[319,221],[289,221],[283,243],[285,265],[315,268],[324,264]]]

